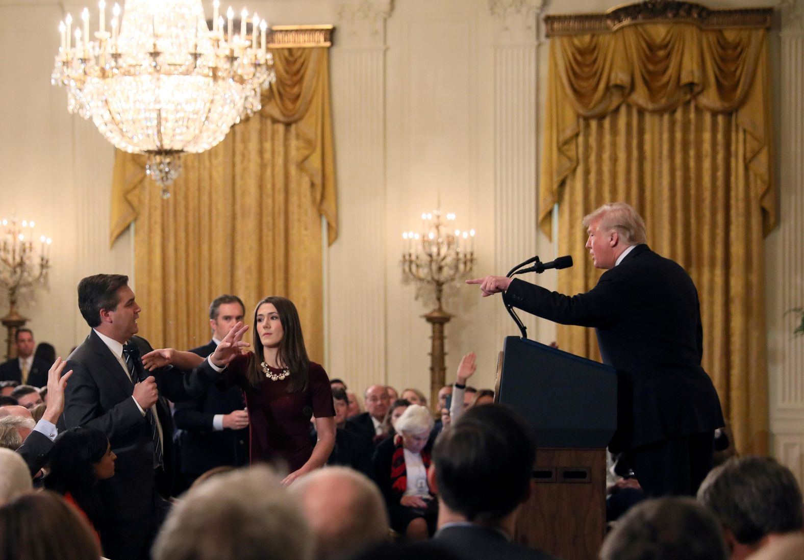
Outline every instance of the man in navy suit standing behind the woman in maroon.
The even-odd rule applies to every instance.
[[[231,294],[216,297],[209,306],[212,340],[190,351],[207,358],[226,333],[243,321],[244,315],[245,306],[239,297]],[[248,463],[248,413],[244,408],[240,387],[219,390],[214,385],[208,386],[198,399],[176,403],[173,420],[182,430],[178,447],[187,487],[211,468]]]

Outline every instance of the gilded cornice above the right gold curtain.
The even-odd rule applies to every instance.
[[[548,37],[582,33],[607,33],[634,23],[684,22],[701,29],[767,29],[773,8],[710,10],[706,6],[678,0],[646,0],[616,6],[602,14],[555,14],[544,16]]]

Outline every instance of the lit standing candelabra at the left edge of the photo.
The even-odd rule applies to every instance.
[[[8,290],[9,312],[0,319],[6,327],[6,358],[16,358],[14,345],[17,329],[25,325],[26,317],[17,311],[20,293],[27,288],[47,282],[47,269],[50,268],[51,238],[41,235],[39,255],[34,247],[34,222],[16,219],[3,219],[2,240],[0,240],[0,286]]]

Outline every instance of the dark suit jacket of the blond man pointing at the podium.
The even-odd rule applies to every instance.
[[[564,296],[513,280],[503,300],[564,325],[594,327],[617,369],[619,412],[610,448],[623,451],[724,425],[701,367],[698,292],[678,264],[640,244],[586,293]]]

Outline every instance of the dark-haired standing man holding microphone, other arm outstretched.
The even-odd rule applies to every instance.
[[[246,327],[238,323],[215,353],[188,373],[174,367],[146,372],[148,342],[135,337],[141,311],[128,276],[97,274],[78,284],[78,307],[92,327],[68,358],[73,370],[65,391],[64,423],[93,427],[109,438],[117,455],[115,476],[98,484],[106,523],[100,527],[104,556],[148,558],[150,543],[166,513],[157,491],[170,439],[163,427],[170,412],[163,399],[182,401],[199,394],[239,354]],[[181,359],[179,367],[190,369]]]

